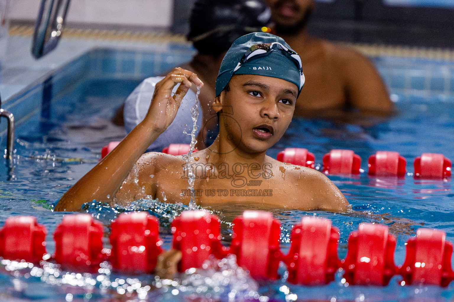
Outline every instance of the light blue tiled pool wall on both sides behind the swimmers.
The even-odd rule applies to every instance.
[[[3,108],[15,115],[16,125],[22,124],[36,112],[43,111],[49,100],[83,77],[114,78],[141,81],[158,75],[191,59],[193,48],[170,45],[156,52],[96,48],[56,72],[49,72],[38,81],[3,101]],[[412,96],[424,102],[436,95],[441,101],[454,101],[454,62],[420,58],[372,58],[393,101],[407,101]],[[46,117],[46,113],[43,113]],[[5,144],[6,123],[0,123],[1,146]]]

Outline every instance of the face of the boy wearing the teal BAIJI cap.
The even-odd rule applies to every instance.
[[[281,139],[290,124],[298,87],[289,81],[256,75],[235,75],[229,87],[230,91],[222,91],[215,102],[232,108],[232,115],[223,110],[220,134],[247,153],[266,151]]]

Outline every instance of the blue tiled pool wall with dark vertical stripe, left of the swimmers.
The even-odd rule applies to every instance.
[[[82,78],[142,81],[169,70],[192,58],[187,46],[170,45],[157,52],[95,48],[81,57],[49,72],[38,81],[3,101],[3,108],[15,116],[16,129],[32,116],[48,119],[49,105],[67,89],[77,86]],[[130,91],[129,91],[130,92]],[[6,123],[0,123],[0,146],[3,148]]]

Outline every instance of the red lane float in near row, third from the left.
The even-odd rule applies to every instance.
[[[147,212],[122,213],[111,227],[112,266],[128,273],[153,272],[163,252],[158,218]]]

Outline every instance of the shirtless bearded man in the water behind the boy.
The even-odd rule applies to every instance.
[[[385,84],[365,56],[307,33],[314,0],[266,3],[275,21],[275,34],[300,54],[308,79],[296,102],[295,116],[342,117],[349,109],[385,116],[393,111]]]

